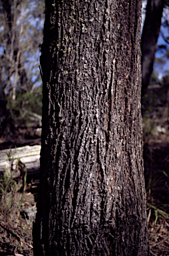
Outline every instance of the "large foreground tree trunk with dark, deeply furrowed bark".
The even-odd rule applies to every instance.
[[[141,1],[46,1],[34,255],[148,255]]]

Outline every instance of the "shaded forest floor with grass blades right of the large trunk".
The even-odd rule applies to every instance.
[[[144,143],[150,255],[169,255],[169,135]]]

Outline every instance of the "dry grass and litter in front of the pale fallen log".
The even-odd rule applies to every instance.
[[[21,161],[13,168],[13,159],[9,155],[10,168],[0,180],[0,253],[19,253],[33,255],[33,221],[23,214],[24,209],[35,205],[26,182],[27,169]],[[14,255],[14,254],[13,254]]]

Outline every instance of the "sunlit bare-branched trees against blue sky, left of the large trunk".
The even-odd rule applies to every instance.
[[[10,107],[15,108],[17,95],[22,94],[19,107],[23,109],[25,101],[29,100],[27,95],[32,93],[33,98],[35,85],[37,82],[41,84],[38,45],[42,39],[43,10],[43,1],[0,1],[0,87],[3,101],[0,111],[3,123],[7,123],[5,98]],[[3,133],[2,125],[0,129]]]

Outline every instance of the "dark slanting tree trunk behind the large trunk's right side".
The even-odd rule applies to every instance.
[[[146,19],[142,30],[142,97],[152,74],[156,42],[160,32],[164,0],[148,0]]]

